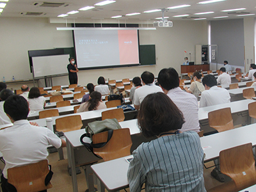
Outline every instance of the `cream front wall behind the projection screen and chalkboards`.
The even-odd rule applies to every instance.
[[[2,17],[0,26],[4,26],[0,30],[0,81],[3,76],[6,81],[12,80],[12,76],[15,76],[15,79],[32,78],[29,70],[29,50],[73,47],[72,31],[56,30],[57,27],[65,27],[65,23],[49,23],[48,19],[44,18]],[[180,73],[180,64],[185,56],[189,57],[189,52],[191,61],[195,61],[195,45],[207,44],[207,23],[199,20],[175,21],[173,28],[140,30],[140,44],[156,44],[156,66],[81,70],[78,73],[79,84],[97,84],[99,76],[106,79],[132,78],[140,76],[145,70],[157,76],[159,70],[164,67],[174,67]],[[52,81],[53,85],[68,84],[68,77],[56,77]],[[44,86],[44,81],[40,82],[40,86]]]

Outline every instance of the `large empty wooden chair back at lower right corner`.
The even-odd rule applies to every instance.
[[[252,143],[222,150],[220,152],[220,170],[235,182],[236,191],[256,184]]]

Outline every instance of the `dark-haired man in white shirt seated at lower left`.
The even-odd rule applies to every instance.
[[[13,126],[0,131],[0,151],[5,161],[1,187],[3,192],[12,192],[16,189],[10,188],[8,183],[7,170],[9,168],[47,159],[49,145],[60,148],[65,147],[66,142],[58,138],[47,127],[29,124],[26,120],[29,113],[28,102],[20,95],[12,95],[6,99],[4,112],[12,121]]]

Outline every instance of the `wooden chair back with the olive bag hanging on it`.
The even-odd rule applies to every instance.
[[[108,131],[100,132],[92,136],[93,144],[104,143],[108,140]],[[104,161],[117,159],[131,155],[131,134],[129,128],[115,129],[108,143],[101,148],[93,148],[93,152]]]

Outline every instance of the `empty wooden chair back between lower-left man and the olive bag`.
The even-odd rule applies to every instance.
[[[56,122],[56,131],[63,131],[63,132],[75,131],[83,127],[83,122],[81,120],[80,115],[72,115],[72,116],[57,118],[55,122]]]

